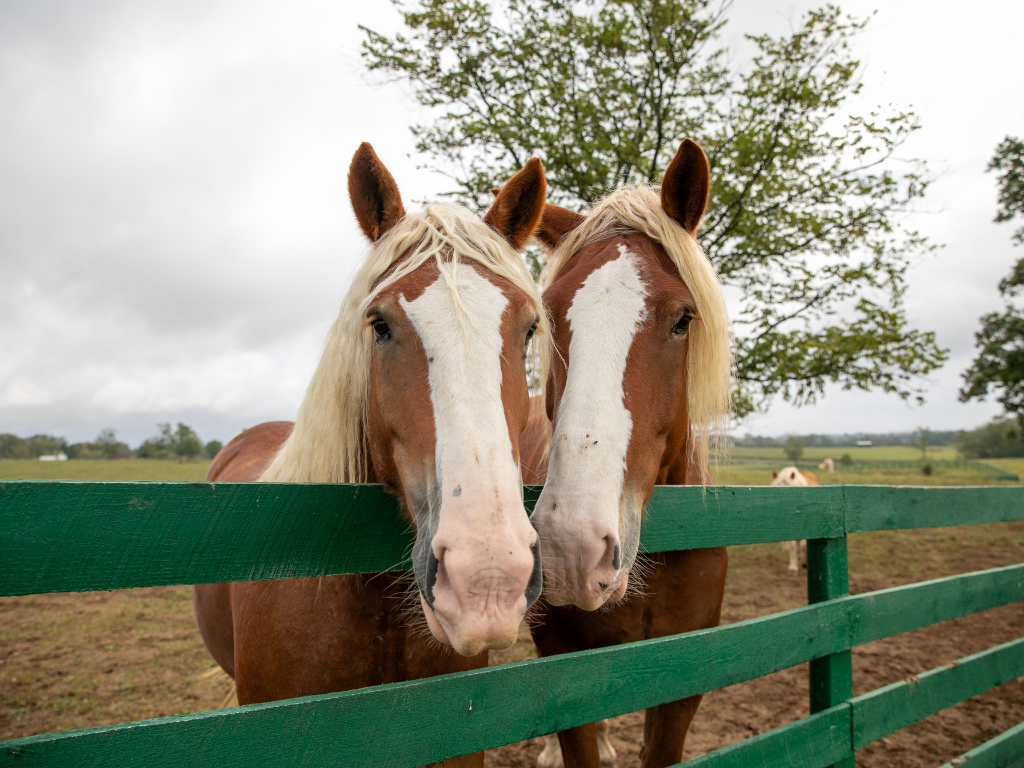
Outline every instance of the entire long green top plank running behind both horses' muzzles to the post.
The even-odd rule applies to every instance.
[[[641,546],[842,530],[841,490],[765,490],[655,488]],[[0,530],[0,595],[394,570],[412,546],[374,484],[7,481]]]

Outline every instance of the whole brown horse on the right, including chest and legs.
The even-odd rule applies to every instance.
[[[707,159],[687,139],[659,195],[618,189],[586,217],[545,208],[539,237],[551,249],[542,284],[555,347],[546,391],[552,437],[532,517],[544,546],[545,598],[534,630],[544,655],[719,623],[724,548],[637,560],[653,486],[710,481],[709,439],[728,409],[725,303],[693,237],[708,189]],[[540,432],[531,425],[528,434]],[[523,453],[540,461],[530,474],[542,479],[543,447]],[[631,594],[638,565],[643,585]],[[647,710],[645,768],[681,760],[699,700]],[[558,734],[566,766],[600,766],[596,731],[590,724]]]

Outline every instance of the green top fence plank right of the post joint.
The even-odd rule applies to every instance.
[[[1024,520],[1024,487],[844,485],[847,532]]]

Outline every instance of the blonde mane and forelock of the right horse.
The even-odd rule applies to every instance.
[[[642,232],[662,244],[696,301],[686,356],[686,399],[702,456],[710,458],[710,450],[717,452],[722,446],[729,414],[732,370],[729,317],[718,273],[696,240],[665,212],[660,188],[624,187],[598,203],[548,257],[541,273],[542,290],[554,282],[566,262],[585,246],[630,231]],[[547,381],[547,376],[541,380]]]

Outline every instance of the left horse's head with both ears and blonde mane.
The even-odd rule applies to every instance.
[[[264,479],[387,485],[416,531],[430,632],[463,655],[508,647],[542,589],[519,435],[526,348],[547,321],[517,249],[543,213],[544,169],[528,162],[483,220],[455,205],[407,214],[367,143],[348,189],[370,252]]]

